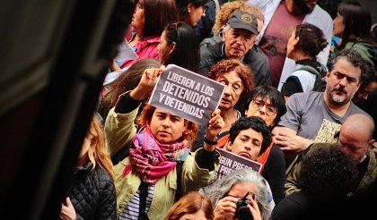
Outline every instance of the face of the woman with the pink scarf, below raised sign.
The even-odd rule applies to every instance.
[[[163,144],[172,144],[180,139],[187,126],[183,118],[160,108],[154,110],[150,123],[154,138]]]

